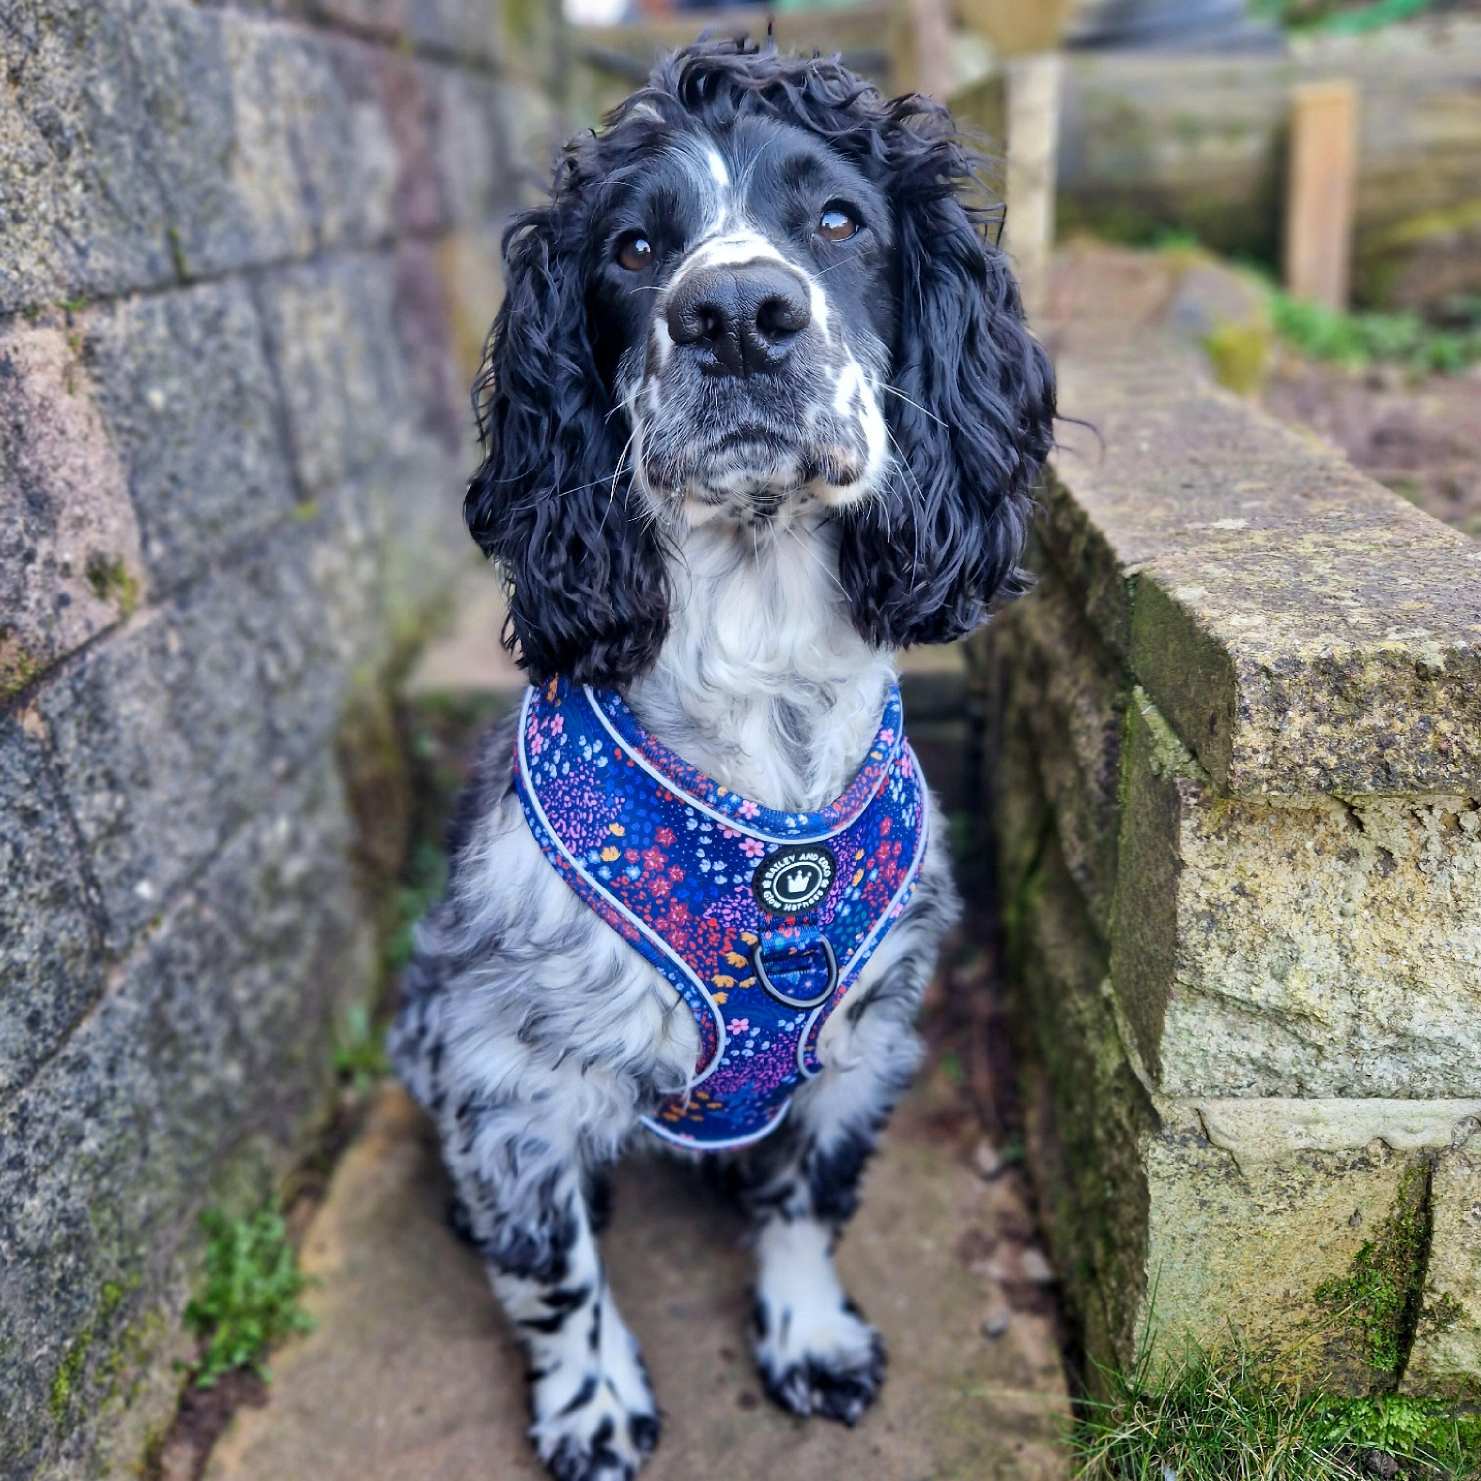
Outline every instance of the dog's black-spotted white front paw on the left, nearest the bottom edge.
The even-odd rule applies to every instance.
[[[589,1365],[567,1358],[533,1379],[530,1440],[557,1481],[632,1481],[658,1444],[643,1360],[631,1336],[621,1337],[621,1348],[601,1342]]]

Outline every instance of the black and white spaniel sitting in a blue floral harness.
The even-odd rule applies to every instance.
[[[964,200],[973,170],[930,99],[702,41],[567,145],[548,204],[504,240],[465,517],[532,689],[453,810],[391,1053],[527,1349],[530,1438],[560,1481],[631,1478],[659,1437],[595,1243],[601,1170],[644,1126],[729,1164],[767,1395],[852,1425],[883,1380],[831,1251],[960,911],[886,723],[893,655],[1023,589],[1053,440],[1052,369]],[[613,776],[641,798],[601,791]],[[853,849],[828,828],[869,788]],[[573,843],[601,809],[637,809],[644,849],[621,822]],[[832,906],[803,908],[825,883],[863,912],[847,939]],[[693,952],[714,942],[659,939],[695,924],[702,887],[736,912],[708,980]],[[780,1065],[764,1094],[745,1083],[757,1046]],[[721,1060],[730,1102],[706,1130]]]

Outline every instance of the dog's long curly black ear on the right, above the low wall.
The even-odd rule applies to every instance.
[[[884,395],[896,465],[880,496],[846,512],[840,549],[855,624],[887,647],[948,643],[994,595],[1023,589],[1054,421],[1053,369],[1017,284],[951,187],[966,156],[945,138],[911,153],[896,182],[899,326]]]

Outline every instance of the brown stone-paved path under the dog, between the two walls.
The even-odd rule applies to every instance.
[[[933,1130],[929,1084],[902,1106],[840,1248],[890,1349],[880,1405],[846,1431],[761,1397],[745,1349],[749,1260],[735,1214],[684,1167],[628,1163],[604,1237],[643,1339],[665,1434],[647,1481],[1050,1481],[1065,1413],[1053,1324],[1017,1177],[985,1182]],[[207,1481],[541,1481],[518,1354],[477,1257],[444,1222],[447,1185],[421,1112],[378,1099],[304,1244],[317,1330],[273,1364]],[[1007,1331],[983,1321],[1013,1312]],[[723,1468],[723,1469],[721,1469]]]

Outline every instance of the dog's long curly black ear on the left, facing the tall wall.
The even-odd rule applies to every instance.
[[[585,237],[560,201],[505,234],[505,299],[474,391],[484,461],[464,518],[499,564],[504,641],[530,678],[610,689],[658,656],[668,578],[592,357]]]

